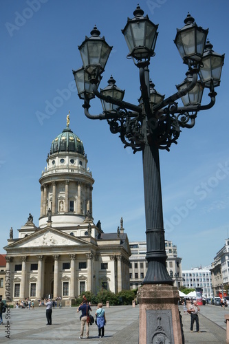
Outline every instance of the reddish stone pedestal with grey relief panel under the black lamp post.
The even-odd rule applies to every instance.
[[[144,284],[138,289],[137,297],[140,304],[139,343],[184,343],[177,288],[167,284]]]

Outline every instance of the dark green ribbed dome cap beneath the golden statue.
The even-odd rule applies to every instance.
[[[69,129],[69,127],[66,127],[62,133],[56,136],[52,141],[50,155],[64,151],[85,154],[83,142],[71,129]]]

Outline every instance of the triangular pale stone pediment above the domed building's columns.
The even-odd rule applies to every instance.
[[[18,240],[17,242],[10,244],[7,248],[39,248],[49,246],[82,246],[88,244],[82,239],[72,237],[66,233],[56,230],[55,228],[47,227],[42,230],[36,231],[33,234]]]

